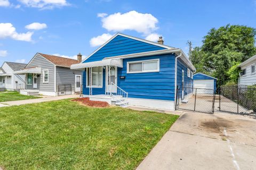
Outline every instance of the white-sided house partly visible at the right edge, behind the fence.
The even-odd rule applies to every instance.
[[[241,85],[256,84],[255,63],[256,63],[256,55],[252,56],[245,62],[238,65],[238,67],[241,68],[238,84],[241,84]]]

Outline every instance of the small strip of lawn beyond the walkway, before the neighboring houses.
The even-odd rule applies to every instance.
[[[40,98],[40,97],[21,95],[17,91],[11,91],[11,92],[9,91],[9,92],[0,93],[0,102],[15,101],[15,100],[26,100],[26,99],[36,99],[36,98]]]

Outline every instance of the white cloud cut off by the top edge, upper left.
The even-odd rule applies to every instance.
[[[52,9],[54,7],[62,7],[69,5],[66,0],[19,0],[28,7],[36,7],[42,9]]]

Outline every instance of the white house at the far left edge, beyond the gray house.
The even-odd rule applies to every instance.
[[[6,90],[24,88],[24,75],[14,74],[13,72],[24,69],[26,65],[22,63],[4,62],[2,67],[0,67],[0,88]]]

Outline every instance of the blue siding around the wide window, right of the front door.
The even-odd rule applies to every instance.
[[[159,59],[159,72],[127,73],[127,62]],[[175,56],[155,55],[123,60],[123,68],[118,68],[117,84],[127,91],[131,98],[174,100],[175,96]],[[125,76],[125,79],[120,79]]]

